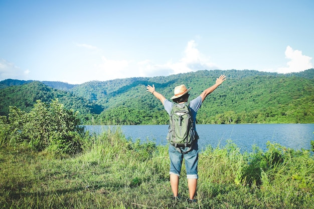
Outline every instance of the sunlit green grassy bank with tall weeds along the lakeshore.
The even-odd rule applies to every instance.
[[[132,143],[108,130],[75,156],[0,149],[0,208],[311,208],[314,158],[268,144],[200,154],[198,203],[174,202],[167,146]],[[180,193],[188,197],[183,170]]]

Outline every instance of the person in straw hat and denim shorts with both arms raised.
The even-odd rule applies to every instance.
[[[199,108],[202,105],[202,102],[205,100],[205,98],[211,94],[218,86],[220,86],[224,81],[226,80],[225,75],[221,75],[219,78],[216,79],[216,83],[209,87],[208,89],[205,89],[197,98],[190,101],[189,106],[191,109],[191,114],[195,126],[196,121],[196,114]],[[174,90],[174,96],[171,97],[173,102],[170,102],[168,99],[166,99],[161,93],[155,91],[154,85],[146,86],[146,90],[153,94],[157,99],[159,99],[162,104],[164,105],[165,110],[170,115],[171,109],[175,103],[185,103],[188,102],[189,98],[189,91],[190,89],[187,89],[185,85],[180,85],[175,87]],[[196,128],[195,128],[196,133]],[[197,134],[197,133],[196,133]],[[198,137],[197,137],[198,138]],[[181,199],[179,196],[179,176],[181,173],[181,167],[183,159],[185,160],[185,166],[187,171],[187,179],[188,179],[188,188],[189,188],[189,202],[196,202],[195,195],[196,195],[196,189],[197,189],[197,180],[198,180],[198,140],[196,139],[192,145],[192,149],[185,153],[185,149],[183,148],[183,152],[179,152],[176,147],[173,145],[169,145],[169,157],[170,157],[170,184],[171,189],[174,194],[174,199]]]

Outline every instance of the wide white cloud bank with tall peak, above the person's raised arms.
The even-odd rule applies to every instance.
[[[183,57],[178,62],[169,60],[165,64],[156,64],[151,60],[136,63],[129,60],[109,60],[102,57],[102,63],[95,65],[95,74],[99,80],[111,80],[115,78],[168,76],[197,70],[218,69],[196,47],[194,40],[189,41]]]

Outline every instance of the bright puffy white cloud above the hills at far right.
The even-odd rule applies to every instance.
[[[313,65],[311,63],[312,58],[302,55],[302,52],[299,50],[293,50],[290,46],[287,46],[284,54],[285,58],[289,59],[285,67],[279,67],[277,69],[267,69],[264,71],[277,73],[292,73],[301,72],[313,68]]]

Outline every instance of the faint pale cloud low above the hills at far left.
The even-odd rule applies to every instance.
[[[17,67],[14,63],[8,62],[7,60],[0,59],[0,80],[6,79],[20,79],[28,80],[30,71],[23,71]]]

